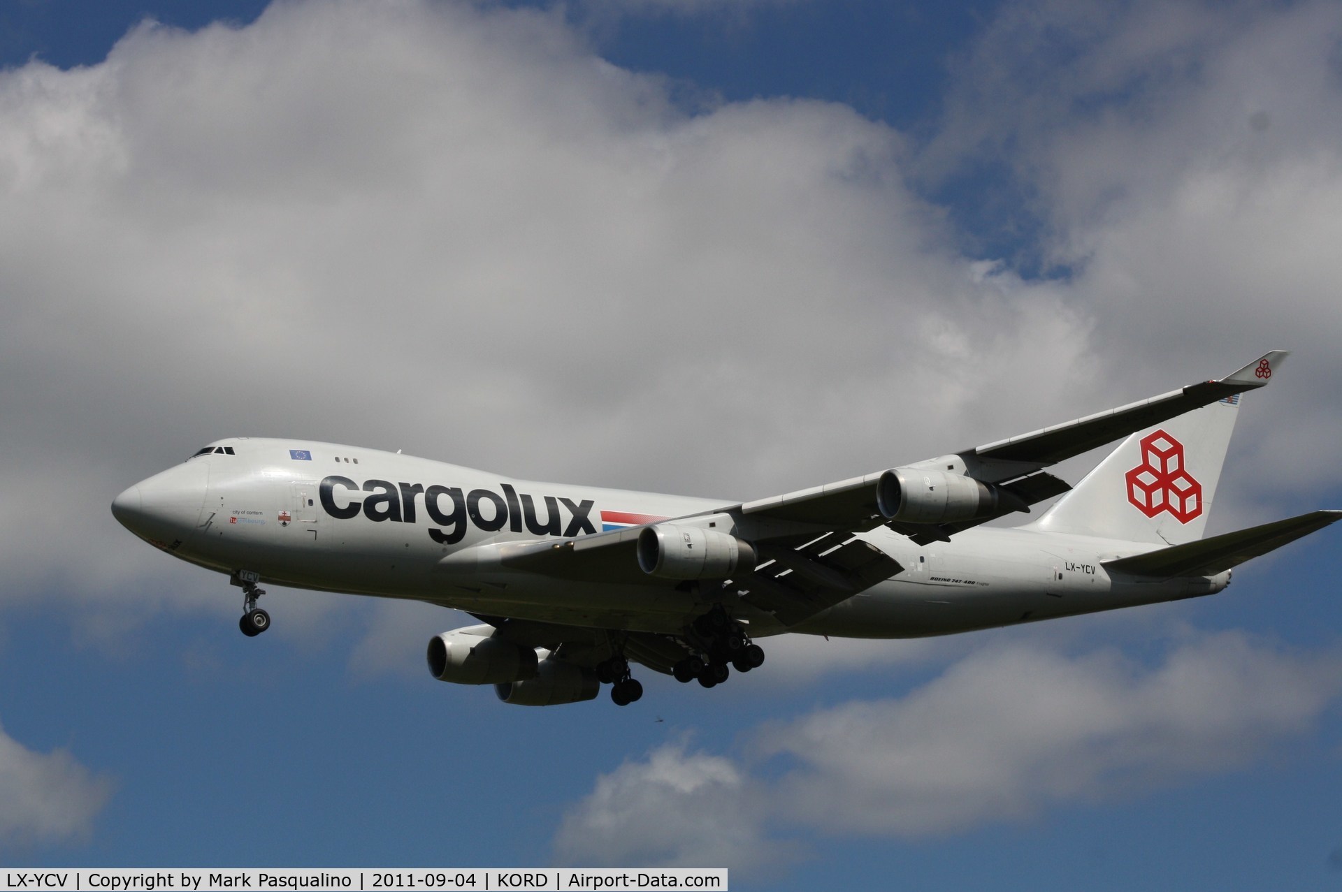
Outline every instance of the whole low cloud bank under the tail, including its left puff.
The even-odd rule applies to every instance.
[[[625,763],[574,806],[557,846],[576,861],[692,860],[705,828],[678,816],[725,816],[729,864],[749,872],[798,826],[960,832],[1241,769],[1307,732],[1339,692],[1337,652],[1239,633],[1193,636],[1154,668],[1117,651],[990,648],[907,696],[764,724],[741,758],[678,744]]]

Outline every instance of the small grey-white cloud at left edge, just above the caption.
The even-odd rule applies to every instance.
[[[89,833],[113,783],[64,750],[28,750],[0,728],[0,845],[51,845]]]

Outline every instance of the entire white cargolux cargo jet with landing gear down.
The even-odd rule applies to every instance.
[[[643,696],[631,664],[713,688],[776,634],[906,638],[1213,594],[1342,511],[1202,538],[1240,394],[1287,351],[1178,390],[754,502],[517,480],[400,452],[231,437],[118,495],[113,515],[243,590],[456,608],[433,677],[519,706]],[[1123,439],[1076,487],[1044,471]],[[1024,526],[988,520],[1062,496]]]

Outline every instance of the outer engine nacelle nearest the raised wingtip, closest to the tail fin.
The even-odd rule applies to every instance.
[[[876,507],[890,520],[954,523],[1028,506],[998,487],[947,471],[895,468],[876,483]]]

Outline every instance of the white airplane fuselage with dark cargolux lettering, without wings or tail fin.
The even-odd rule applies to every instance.
[[[357,447],[267,439],[213,445],[231,453],[197,455],[132,487],[118,496],[118,518],[174,557],[223,573],[561,625],[675,634],[703,606],[692,585],[569,582],[444,558],[484,543],[585,535],[737,504],[514,480]],[[1111,575],[1103,561],[1153,546],[1028,526],[978,527],[927,546],[879,526],[859,535],[903,571],[797,626],[785,629],[745,601],[735,605],[738,618],[753,636],[915,637],[1209,594],[1229,578]]]

